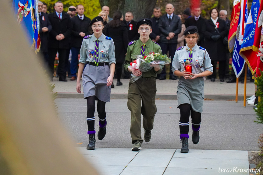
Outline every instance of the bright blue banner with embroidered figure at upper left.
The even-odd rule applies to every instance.
[[[22,26],[24,34],[28,38],[30,46],[34,44],[34,30],[32,21],[32,1],[31,0],[13,0],[12,9],[15,12],[17,22]]]

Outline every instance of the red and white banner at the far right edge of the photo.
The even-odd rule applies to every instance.
[[[256,69],[256,77],[260,76],[259,69],[263,71],[263,31],[262,31],[262,23],[263,23],[263,1],[260,2],[258,19],[255,29],[255,39],[253,44],[253,50],[258,51],[258,61],[257,61],[257,69]]]

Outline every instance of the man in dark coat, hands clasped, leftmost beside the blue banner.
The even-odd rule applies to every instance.
[[[43,2],[38,1],[40,52],[44,56],[45,66],[48,66],[48,33],[52,30],[52,26],[48,20],[48,15],[42,12],[42,8]]]

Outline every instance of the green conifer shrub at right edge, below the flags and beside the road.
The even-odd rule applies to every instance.
[[[260,69],[259,69],[260,70]],[[259,77],[255,78],[255,85],[258,86],[258,91],[256,93],[256,96],[260,97],[260,101],[258,101],[257,109],[255,109],[255,112],[257,114],[258,121],[254,121],[256,123],[262,123],[263,124],[263,71],[260,70],[261,75]]]

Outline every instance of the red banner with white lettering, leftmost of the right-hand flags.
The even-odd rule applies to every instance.
[[[232,14],[231,14],[230,29],[228,34],[229,52],[232,52],[234,49],[239,15],[240,15],[240,0],[234,0]]]

